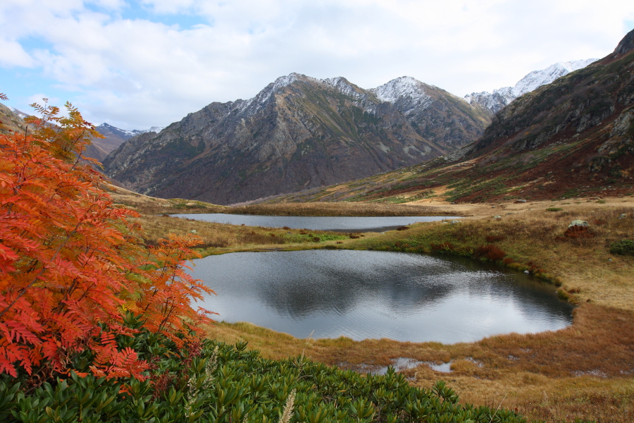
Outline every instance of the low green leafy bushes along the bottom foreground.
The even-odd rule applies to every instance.
[[[128,323],[137,326],[137,318]],[[41,386],[25,377],[0,379],[2,422],[526,422],[515,412],[459,404],[445,383],[409,386],[402,374],[362,376],[302,356],[266,360],[247,343],[204,340],[178,348],[146,329],[130,343],[153,364],[147,379],[77,376]]]

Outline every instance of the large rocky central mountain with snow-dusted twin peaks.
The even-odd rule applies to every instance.
[[[138,192],[231,204],[415,164],[472,142],[488,123],[480,106],[414,78],[364,90],[292,73],[252,99],[132,137],[104,166]]]

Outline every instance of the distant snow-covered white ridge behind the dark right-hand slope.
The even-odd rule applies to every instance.
[[[503,87],[493,90],[493,92],[472,92],[464,96],[464,99],[471,104],[480,104],[486,109],[489,109],[492,114],[496,114],[506,104],[509,104],[517,97],[521,97],[527,92],[537,90],[542,85],[547,85],[557,78],[561,78],[564,75],[568,75],[573,71],[581,68],[585,68],[590,63],[597,61],[598,59],[585,59],[578,61],[568,61],[555,63],[548,66],[541,71],[533,71],[519,80],[514,87]]]

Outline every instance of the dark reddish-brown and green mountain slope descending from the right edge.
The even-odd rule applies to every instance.
[[[634,30],[604,59],[511,102],[471,145],[397,172],[270,201],[597,195],[634,195]]]

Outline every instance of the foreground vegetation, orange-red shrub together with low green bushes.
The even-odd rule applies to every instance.
[[[92,125],[70,104],[68,117],[35,107],[42,118],[0,134],[2,421],[526,422],[460,403],[442,381],[419,388],[392,370],[362,376],[201,338],[211,312],[192,300],[213,291],[184,271],[200,238],[146,245],[139,215],[82,157]]]

